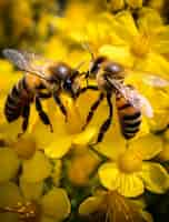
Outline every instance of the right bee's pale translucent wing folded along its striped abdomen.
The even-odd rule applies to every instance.
[[[127,101],[129,101],[131,105],[133,105],[138,110],[141,110],[142,113],[148,118],[153,117],[153,110],[150,102],[135,88],[132,88],[131,85],[125,85],[118,80],[112,80],[110,78],[107,79],[112,84],[112,87],[118,90],[118,92],[120,92]]]

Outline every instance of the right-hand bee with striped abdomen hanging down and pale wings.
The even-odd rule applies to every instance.
[[[109,60],[107,57],[99,56],[95,58],[92,53],[91,56],[92,61],[89,71],[86,74],[86,78],[95,78],[97,85],[90,85],[87,81],[87,87],[82,88],[79,91],[79,94],[86,92],[87,90],[99,90],[100,93],[98,99],[91,105],[88,117],[86,119],[86,124],[82,129],[84,129],[89,124],[95,111],[106,98],[109,107],[109,115],[101,124],[97,142],[95,144],[102,141],[112,121],[113,105],[111,102],[111,97],[112,94],[115,94],[121,133],[127,140],[129,140],[133,138],[139,131],[142,113],[146,114],[148,118],[152,118],[153,111],[151,104],[132,85],[125,84],[126,77],[130,74],[130,72],[133,72],[133,70],[129,70],[120,63]],[[145,80],[146,83],[153,87],[161,88],[169,84],[167,80],[161,79],[157,75],[141,73],[140,77],[142,78],[142,80]]]

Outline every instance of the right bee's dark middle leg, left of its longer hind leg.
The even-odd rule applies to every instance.
[[[89,124],[89,122],[91,121],[92,117],[93,117],[93,113],[95,111],[98,109],[99,104],[101,103],[101,101],[103,100],[105,98],[105,94],[103,93],[100,93],[99,94],[99,98],[95,101],[95,103],[91,105],[90,108],[90,111],[89,111],[89,114],[87,117],[87,120],[86,120],[86,124],[82,127],[82,130],[84,130],[84,128]]]

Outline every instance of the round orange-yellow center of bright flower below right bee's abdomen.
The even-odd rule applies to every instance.
[[[142,160],[135,153],[126,151],[119,157],[119,169],[125,173],[133,173],[141,170]]]

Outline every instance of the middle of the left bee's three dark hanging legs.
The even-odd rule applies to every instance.
[[[40,102],[40,99],[38,97],[36,97],[36,109],[38,111],[38,114],[39,114],[41,121],[44,124],[49,125],[50,127],[50,131],[53,132],[52,124],[51,124],[47,113],[43,111],[41,102]]]

